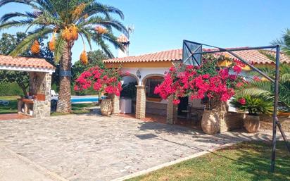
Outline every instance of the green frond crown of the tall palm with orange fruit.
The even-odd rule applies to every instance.
[[[27,27],[27,30],[33,28],[32,33],[21,39],[13,51],[9,52],[12,56],[17,56],[29,49],[34,40],[54,34],[56,37],[54,58],[56,62],[60,61],[66,42],[63,35],[69,27],[76,27],[77,35],[80,35],[82,42],[86,39],[91,49],[94,42],[109,57],[113,57],[113,54],[106,42],[120,49],[124,48],[113,35],[113,28],[127,34],[125,26],[111,15],[116,14],[123,19],[124,15],[118,8],[100,4],[95,0],[0,0],[0,7],[13,2],[26,4],[34,11],[6,13],[0,18],[0,30],[10,27]],[[105,27],[106,31],[101,34],[96,32],[98,25]]]

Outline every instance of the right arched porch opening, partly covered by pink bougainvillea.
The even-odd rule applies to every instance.
[[[154,89],[164,80],[163,75],[148,75],[144,78],[146,94],[146,119],[158,120],[165,123],[167,113],[167,101],[163,100],[158,94],[154,94]]]

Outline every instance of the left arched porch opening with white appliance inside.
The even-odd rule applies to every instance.
[[[134,75],[122,77],[122,91],[120,95],[120,113],[135,116],[138,78]]]

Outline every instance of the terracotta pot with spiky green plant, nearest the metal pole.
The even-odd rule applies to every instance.
[[[241,111],[246,112],[244,116],[244,127],[248,132],[257,132],[260,127],[259,114],[272,113],[272,102],[254,96],[241,96],[234,98],[231,104]]]

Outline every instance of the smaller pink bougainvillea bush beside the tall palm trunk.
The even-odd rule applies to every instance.
[[[120,92],[122,91],[121,76],[124,74],[120,71],[120,68],[101,69],[99,66],[96,66],[84,71],[75,80],[76,84],[74,89],[75,91],[82,91],[93,87],[96,92],[120,96]]]

